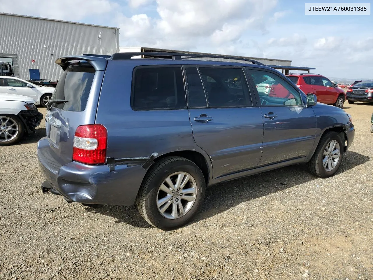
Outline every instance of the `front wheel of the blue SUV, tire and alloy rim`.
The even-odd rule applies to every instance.
[[[338,133],[334,131],[325,133],[308,162],[308,169],[313,175],[320,178],[333,176],[341,165],[343,149],[344,144]]]

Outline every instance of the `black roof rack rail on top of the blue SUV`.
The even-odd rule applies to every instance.
[[[236,60],[244,60],[251,62],[257,65],[263,65],[263,63],[258,62],[254,59],[243,58],[243,57],[236,57],[236,56],[222,56],[222,55],[198,55],[195,53],[162,53],[162,52],[139,52],[139,53],[114,53],[110,58],[112,60],[122,60],[122,59],[131,59],[132,56],[139,56],[139,55],[146,55],[146,56],[171,56],[172,59],[179,59],[181,60],[182,56],[185,58],[190,57],[211,57],[211,58],[221,58],[221,59],[236,59]]]

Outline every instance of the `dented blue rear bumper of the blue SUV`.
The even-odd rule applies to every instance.
[[[38,142],[38,161],[46,178],[43,187],[52,187],[68,202],[105,205],[132,205],[146,170],[141,165],[119,165],[109,172],[107,165],[87,165],[70,162],[60,165],[49,152],[46,137]],[[45,189],[44,189],[45,190]]]

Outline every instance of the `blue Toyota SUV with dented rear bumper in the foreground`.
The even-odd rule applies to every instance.
[[[138,55],[172,59],[131,59]],[[57,59],[65,72],[37,148],[43,192],[84,205],[135,203],[169,230],[195,217],[207,186],[299,163],[322,178],[338,170],[355,134],[344,110],[255,60],[181,56],[227,58]],[[254,80],[266,76],[290,97],[259,94]]]

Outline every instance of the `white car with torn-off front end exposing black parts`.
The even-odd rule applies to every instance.
[[[42,119],[31,97],[0,93],[0,146],[16,143],[25,133],[34,133]]]

